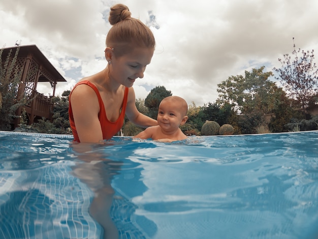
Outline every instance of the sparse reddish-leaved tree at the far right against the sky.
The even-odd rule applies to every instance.
[[[318,86],[318,69],[316,64],[313,63],[314,54],[313,50],[304,51],[296,50],[294,38],[294,60],[289,54],[284,54],[284,59],[278,58],[282,67],[279,69],[274,68],[278,73],[275,79],[279,80],[289,97],[295,99],[301,106],[304,116],[306,115],[306,107],[308,106],[312,97],[317,93]],[[300,54],[300,56],[299,56]]]

